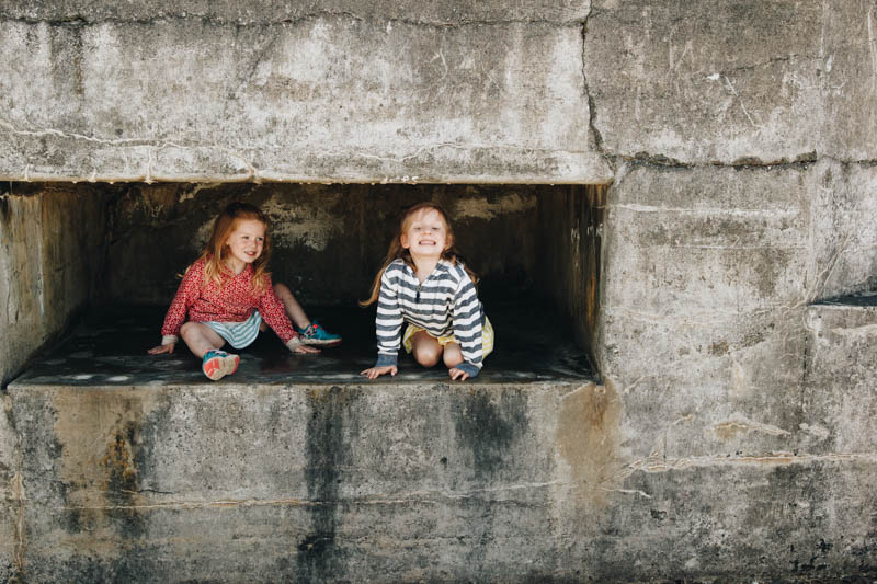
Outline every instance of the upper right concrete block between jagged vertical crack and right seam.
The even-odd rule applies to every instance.
[[[584,66],[608,152],[692,163],[812,159],[823,3],[601,0]]]

